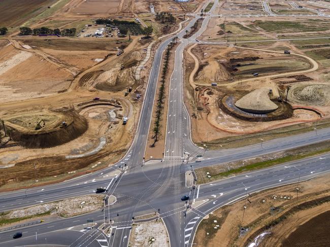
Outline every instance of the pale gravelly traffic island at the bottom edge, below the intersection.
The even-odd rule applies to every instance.
[[[132,247],[169,247],[169,237],[161,220],[134,224],[129,244]]]

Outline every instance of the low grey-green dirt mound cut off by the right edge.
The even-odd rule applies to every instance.
[[[288,100],[310,105],[329,105],[330,85],[305,84],[294,85],[289,89]]]

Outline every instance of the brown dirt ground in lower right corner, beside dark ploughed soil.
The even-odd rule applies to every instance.
[[[280,246],[297,227],[328,210],[329,202],[322,198],[329,196],[329,185],[329,175],[323,175],[299,185],[292,184],[251,194],[233,205],[215,210],[209,218],[204,219],[196,232],[194,243],[206,247],[246,246],[262,232],[271,232],[258,246]],[[304,204],[306,202],[308,204]],[[244,218],[243,206],[246,206]],[[280,218],[283,215],[286,218]],[[281,220],[277,220],[277,224],[266,228],[279,218]],[[214,229],[216,224],[220,227]],[[243,234],[240,234],[241,227],[247,229]]]

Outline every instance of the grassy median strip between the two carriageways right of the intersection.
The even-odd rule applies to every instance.
[[[330,152],[330,147],[318,150],[318,151],[313,151],[313,152],[309,152],[309,153],[304,153],[304,154],[296,154],[296,155],[287,155],[284,156],[282,158],[278,158],[278,159],[273,159],[273,160],[266,160],[266,161],[261,161],[261,162],[256,162],[253,164],[249,164],[246,166],[241,166],[232,170],[228,170],[228,171],[223,171],[223,172],[219,172],[216,174],[212,174],[212,172],[210,172],[211,178],[209,179],[202,179],[202,181],[204,180],[205,182],[213,182],[216,180],[220,180],[226,177],[229,177],[231,175],[237,175],[239,173],[242,172],[247,172],[247,171],[253,171],[253,170],[259,170],[259,169],[265,169],[267,167],[270,166],[274,166],[274,165],[278,165],[278,164],[282,164],[285,162],[289,162],[289,161],[294,161],[294,160],[299,160],[299,159],[304,159],[307,157],[311,157],[311,156],[315,156],[315,155],[319,155],[319,154],[323,154],[323,153],[327,153]],[[201,178],[199,178],[198,174],[201,175],[201,173],[204,173],[204,176],[206,177],[206,170],[207,167],[203,167],[203,168],[199,168],[196,169],[196,174],[197,174],[197,181],[201,181]]]

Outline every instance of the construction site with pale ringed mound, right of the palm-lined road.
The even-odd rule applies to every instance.
[[[235,8],[247,7],[259,8],[235,3]],[[198,39],[219,45],[193,44],[184,54],[194,142],[219,148],[228,137],[259,136],[328,118],[328,40],[276,41],[302,32],[317,36],[328,31],[326,25],[327,20],[319,17],[211,18]],[[235,44],[225,44],[230,41]]]

